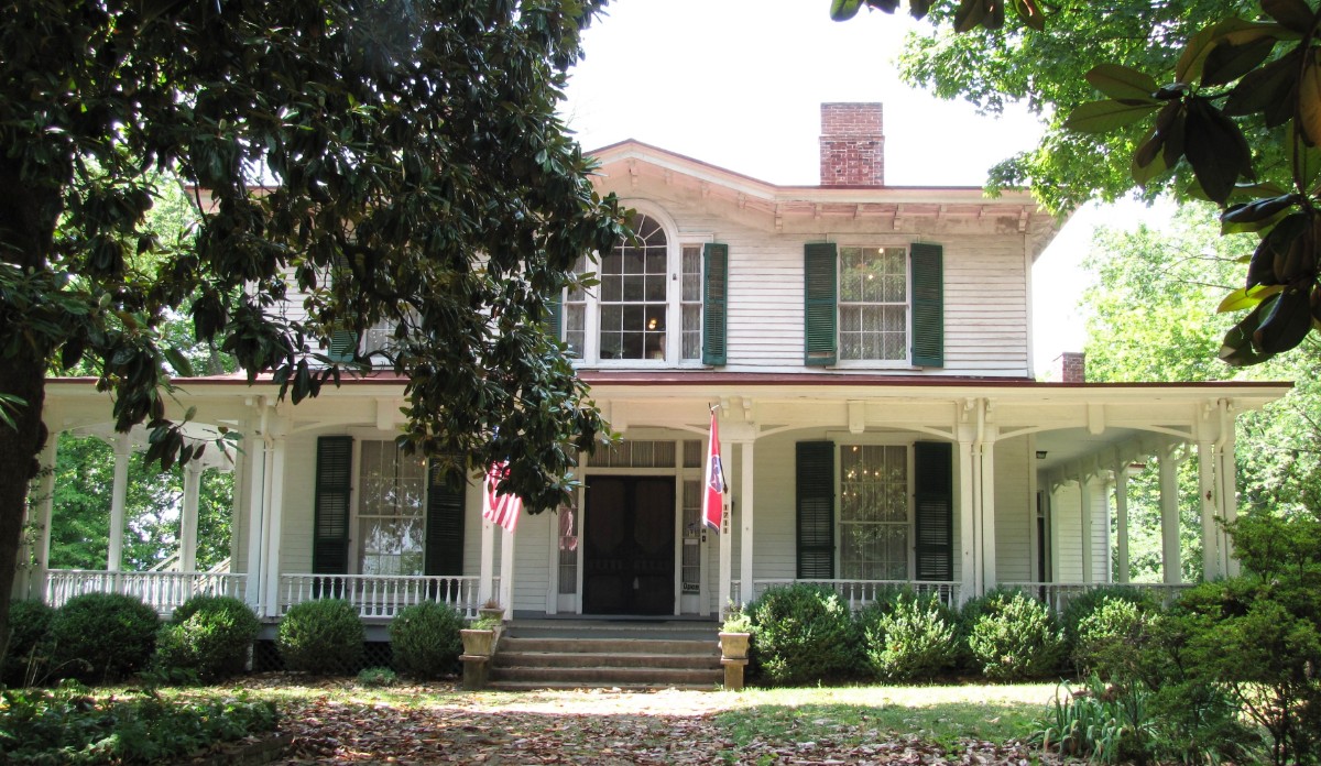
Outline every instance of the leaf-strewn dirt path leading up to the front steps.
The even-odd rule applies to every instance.
[[[336,692],[288,697],[285,763],[1042,763],[1021,745],[915,738],[838,725],[815,741],[740,746],[716,716],[742,705],[713,692],[417,693],[416,704]]]

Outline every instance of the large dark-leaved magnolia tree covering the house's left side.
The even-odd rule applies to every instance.
[[[148,457],[196,457],[165,417],[186,357],[162,325],[292,401],[394,329],[406,449],[503,482],[536,512],[604,432],[548,337],[547,296],[624,234],[555,108],[588,0],[15,0],[0,25],[0,593],[48,433],[46,374],[91,365]],[[188,235],[145,215],[173,176]],[[297,292],[305,318],[283,304]],[[0,598],[0,637],[8,635]]]

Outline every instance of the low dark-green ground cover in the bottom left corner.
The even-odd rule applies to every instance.
[[[96,697],[58,689],[0,692],[0,761],[13,763],[182,762],[215,742],[275,729],[271,701],[243,693],[223,700],[165,700],[151,693]]]

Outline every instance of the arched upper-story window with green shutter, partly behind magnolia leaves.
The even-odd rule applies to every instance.
[[[601,254],[598,284],[569,291],[563,338],[587,363],[724,363],[724,244],[679,243],[659,218],[633,221],[637,238]],[[715,291],[712,289],[715,287]],[[715,353],[715,351],[719,351]]]

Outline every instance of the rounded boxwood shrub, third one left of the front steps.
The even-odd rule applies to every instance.
[[[211,681],[243,672],[262,622],[230,596],[196,596],[156,635],[156,667],[168,678]]]

